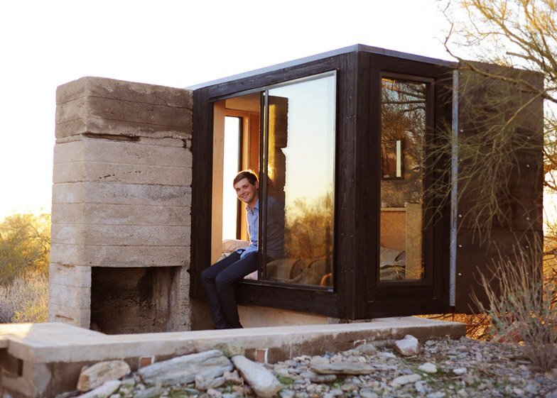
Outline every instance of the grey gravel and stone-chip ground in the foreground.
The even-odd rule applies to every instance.
[[[429,340],[421,344],[420,353],[411,356],[397,353],[392,343],[377,342],[342,353],[302,355],[266,367],[283,384],[276,394],[281,398],[557,398],[557,368],[536,372],[519,347],[470,338]],[[317,373],[326,367],[368,371],[361,375]],[[220,379],[211,387],[195,383],[160,387],[129,377],[110,398],[256,396],[236,371]],[[206,386],[211,384],[206,382]]]

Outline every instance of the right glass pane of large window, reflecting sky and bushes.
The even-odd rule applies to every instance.
[[[266,280],[332,286],[335,76],[267,103]]]

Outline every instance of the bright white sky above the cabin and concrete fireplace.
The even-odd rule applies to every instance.
[[[3,1],[0,219],[50,212],[60,84],[188,87],[357,43],[450,60],[445,29],[435,0]]]

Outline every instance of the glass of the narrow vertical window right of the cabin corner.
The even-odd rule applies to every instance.
[[[427,84],[382,79],[379,278],[423,279],[423,153]]]

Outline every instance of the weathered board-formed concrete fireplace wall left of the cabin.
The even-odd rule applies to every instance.
[[[83,77],[56,103],[49,320],[90,327],[92,267],[176,267],[157,306],[189,329],[192,92]]]

